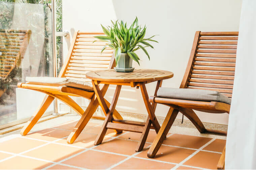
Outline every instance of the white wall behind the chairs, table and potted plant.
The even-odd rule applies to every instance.
[[[192,47],[195,31],[238,31],[241,0],[64,0],[63,29],[71,34],[74,30],[101,31],[100,24],[109,25],[110,19],[131,23],[135,16],[139,24],[147,25],[146,37],[159,35],[155,49],[148,49],[151,60],[138,51],[140,68],[172,71],[174,77],[163,81],[163,87],[180,86]],[[70,46],[64,42],[64,56]],[[135,68],[138,64],[133,62]],[[156,83],[147,85],[153,95]],[[111,100],[115,87],[110,87],[106,99]],[[117,110],[147,114],[140,90],[123,87]],[[157,116],[165,116],[168,107],[158,105]],[[197,112],[204,122],[227,124],[227,114]],[[181,118],[181,115],[179,115]]]

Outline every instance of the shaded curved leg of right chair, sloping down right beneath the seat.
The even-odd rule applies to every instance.
[[[184,114],[196,126],[197,130],[200,133],[206,132],[206,129],[205,129],[203,123],[201,122],[201,120],[198,118],[198,116],[192,109],[179,107],[179,111],[182,114]]]

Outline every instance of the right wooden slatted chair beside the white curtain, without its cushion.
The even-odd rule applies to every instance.
[[[235,60],[238,32],[200,32],[195,38],[180,88],[217,91],[226,97],[232,97],[235,74]],[[165,136],[171,128],[178,112],[185,115],[201,133],[226,135],[227,132],[206,129],[192,110],[209,113],[229,113],[230,105],[217,101],[194,101],[151,96],[150,102],[170,106],[148,157],[153,158],[159,150]],[[225,149],[218,164],[224,168]]]

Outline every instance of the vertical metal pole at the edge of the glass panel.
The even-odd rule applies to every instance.
[[[56,45],[56,1],[52,0],[52,36],[53,36],[53,76],[57,77],[57,45]],[[54,112],[58,115],[58,101],[54,99]]]

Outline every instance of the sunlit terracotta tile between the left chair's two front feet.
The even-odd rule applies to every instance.
[[[43,130],[30,133],[26,135],[26,137],[53,141],[53,140],[68,136],[69,134],[70,134],[70,131],[67,131],[67,130],[49,128],[49,129],[43,129]]]

